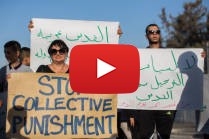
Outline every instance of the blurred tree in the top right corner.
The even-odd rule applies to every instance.
[[[202,0],[184,4],[184,11],[176,17],[167,17],[165,8],[160,18],[167,32],[167,47],[205,47],[209,43],[209,13]]]

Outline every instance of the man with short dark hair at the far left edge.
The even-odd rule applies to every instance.
[[[2,99],[0,99],[0,138],[5,137],[6,130],[6,105],[7,105],[7,92],[8,83],[7,79],[11,77],[10,73],[14,72],[32,72],[32,70],[21,63],[21,45],[17,41],[9,41],[4,45],[5,58],[8,61],[8,65],[3,66],[0,69],[0,93],[3,93]]]

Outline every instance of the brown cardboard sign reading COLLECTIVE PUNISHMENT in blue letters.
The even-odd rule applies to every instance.
[[[73,92],[68,74],[14,73],[8,92],[8,137],[108,138],[117,133],[116,95]]]

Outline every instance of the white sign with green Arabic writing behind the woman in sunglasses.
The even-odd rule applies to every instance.
[[[53,40],[62,39],[70,50],[78,44],[117,44],[119,40],[119,22],[38,18],[32,21],[31,69],[34,71],[41,64],[51,63],[47,51]]]

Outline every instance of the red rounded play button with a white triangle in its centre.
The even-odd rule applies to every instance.
[[[77,45],[70,53],[70,85],[79,93],[132,93],[139,86],[139,65],[132,45]]]

